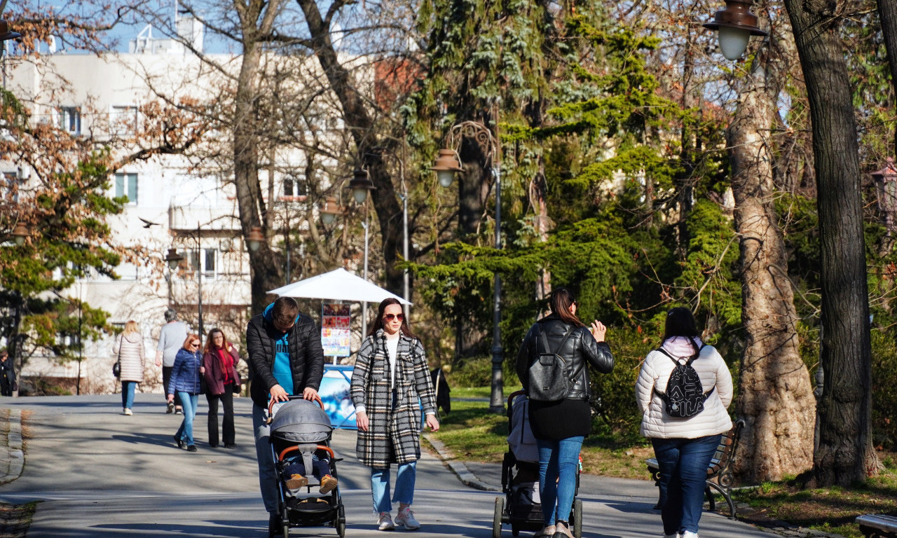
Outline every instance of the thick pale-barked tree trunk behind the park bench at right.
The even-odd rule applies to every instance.
[[[769,47],[765,47],[769,49]],[[774,207],[773,140],[778,91],[761,51],[728,127],[736,230],[741,237],[742,321],[737,416],[745,419],[736,471],[751,483],[813,466],[815,400],[797,341],[797,312]]]

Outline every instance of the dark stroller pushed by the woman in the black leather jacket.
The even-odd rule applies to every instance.
[[[539,499],[539,451],[529,428],[529,399],[522,390],[508,396],[508,430],[508,452],[501,462],[501,490],[505,495],[495,498],[492,538],[501,538],[501,524],[510,524],[514,536],[521,530],[539,531],[544,526]],[[579,463],[570,513],[570,530],[576,538],[582,537],[582,499],[576,499],[581,458]]]

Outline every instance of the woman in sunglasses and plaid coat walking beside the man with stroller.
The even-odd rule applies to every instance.
[[[380,303],[370,334],[361,343],[352,376],[352,401],[358,424],[356,453],[361,464],[370,467],[379,530],[396,525],[420,528],[411,503],[415,465],[421,457],[421,404],[427,426],[436,431],[440,423],[423,345],[408,328],[397,299]],[[399,503],[395,524],[390,515],[390,464],[398,465],[392,499]]]

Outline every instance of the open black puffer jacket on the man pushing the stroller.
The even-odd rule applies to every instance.
[[[249,378],[252,380],[249,395],[252,402],[260,407],[268,406],[268,393],[272,386],[277,385],[272,373],[274,343],[282,335],[264,314],[250,319],[246,327]],[[324,376],[324,350],[314,320],[301,313],[296,317],[296,324],[290,329],[288,349],[294,393],[301,395],[305,387],[318,390]]]

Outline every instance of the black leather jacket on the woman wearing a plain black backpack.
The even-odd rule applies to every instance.
[[[544,332],[548,338],[551,351],[560,355],[564,360],[564,372],[567,374],[567,378],[573,381],[566,398],[588,400],[592,397],[592,388],[588,382],[587,361],[592,368],[603,374],[609,374],[614,369],[614,355],[611,354],[610,346],[605,342],[596,342],[588,331],[588,327],[573,327],[563,348],[556,349],[561,344],[563,335],[571,326],[564,323],[560,317],[551,314],[529,327],[527,336],[523,339],[520,351],[517,353],[517,375],[524,390],[529,390],[527,386],[529,365],[538,358],[540,352],[544,352],[540,332]]]

